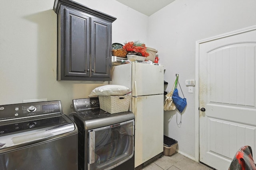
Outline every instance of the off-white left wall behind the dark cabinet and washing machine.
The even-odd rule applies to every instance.
[[[117,18],[112,42],[147,41],[148,17],[144,14],[115,0],[77,2]],[[56,81],[57,15],[53,4],[54,0],[0,0],[0,105],[47,98],[61,100],[64,113],[70,113],[72,99],[86,98],[95,87],[108,84]],[[140,27],[127,26],[129,21]]]

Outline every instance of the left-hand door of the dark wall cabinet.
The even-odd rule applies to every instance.
[[[90,76],[90,18],[78,10],[64,9],[64,61],[62,80]],[[63,56],[62,56],[63,57]]]

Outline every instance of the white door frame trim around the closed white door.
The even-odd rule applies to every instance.
[[[200,129],[199,129],[199,46],[202,43],[206,43],[209,41],[214,41],[217,39],[222,39],[225,37],[230,37],[233,35],[238,35],[241,33],[246,33],[248,31],[254,31],[256,30],[256,25],[250,26],[250,27],[246,27],[243,29],[238,29],[236,31],[231,31],[228,33],[224,33],[224,34],[220,34],[220,35],[216,35],[214,37],[210,37],[210,38],[206,38],[206,39],[202,39],[202,40],[198,40],[196,41],[196,70],[195,70],[195,79],[196,82],[198,82],[195,86],[195,161],[199,162],[199,153],[200,153],[200,146],[199,146],[199,137],[200,137]]]

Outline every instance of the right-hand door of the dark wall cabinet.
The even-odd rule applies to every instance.
[[[91,74],[95,78],[110,80],[111,23],[91,18]],[[109,79],[108,79],[109,78]]]

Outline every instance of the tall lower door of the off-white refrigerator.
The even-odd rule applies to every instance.
[[[135,115],[135,168],[163,152],[164,95],[132,97]]]

